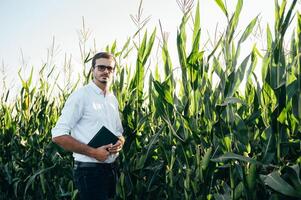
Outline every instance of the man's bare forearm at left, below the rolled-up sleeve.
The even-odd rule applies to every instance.
[[[52,139],[52,141],[67,151],[95,157],[95,149],[83,144],[70,135],[62,135]]]

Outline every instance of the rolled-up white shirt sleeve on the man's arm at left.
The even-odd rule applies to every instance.
[[[51,130],[52,138],[70,134],[71,129],[82,117],[84,101],[81,92],[72,93],[67,99],[61,116]]]

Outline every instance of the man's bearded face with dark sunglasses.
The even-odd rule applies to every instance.
[[[94,81],[107,84],[114,72],[115,61],[113,59],[98,58],[93,70]]]

